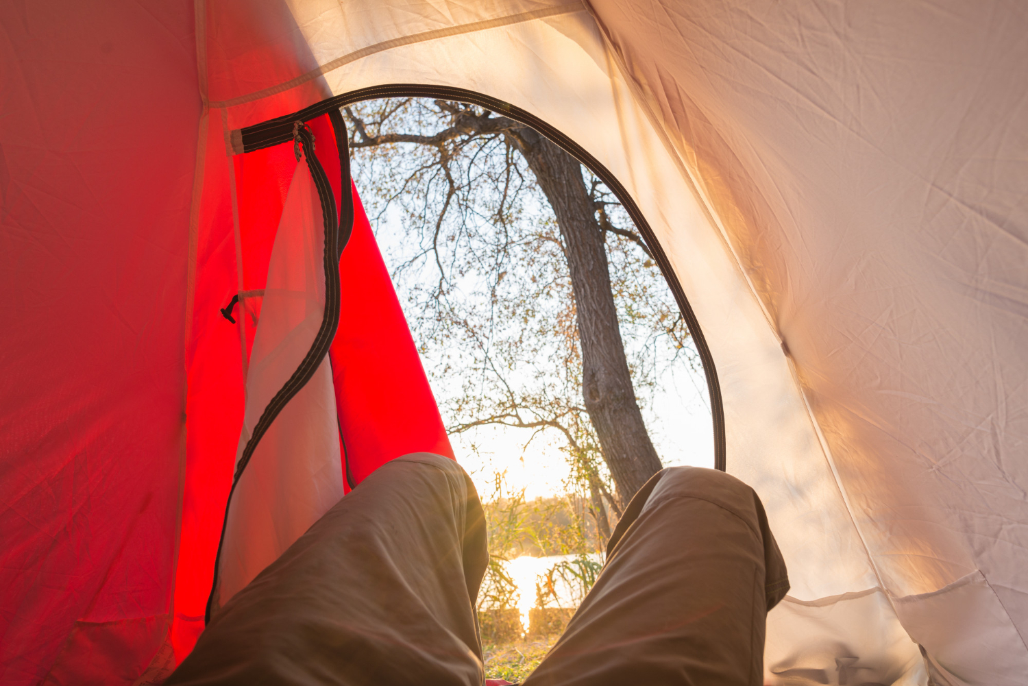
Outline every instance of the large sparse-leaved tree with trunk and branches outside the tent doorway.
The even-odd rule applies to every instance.
[[[461,418],[450,430],[504,424],[560,431],[597,526],[609,535],[604,498],[620,511],[661,468],[635,393],[635,386],[653,380],[638,364],[646,355],[636,355],[634,369],[629,363],[614,291],[627,304],[622,319],[646,320],[651,347],[670,341],[672,361],[687,350],[688,331],[673,300],[642,306],[658,284],[666,291],[645,242],[624,227],[620,206],[598,180],[587,182],[576,159],[506,116],[414,99],[364,103],[344,113],[362,182],[383,198],[376,209],[382,213],[399,203],[406,230],[418,240],[399,272],[435,262],[437,279],[415,279],[410,291],[432,313],[415,328],[424,334],[431,323],[429,338],[440,344],[452,345],[454,333],[470,341],[472,357],[495,387],[485,397],[466,384],[450,408]],[[634,269],[612,278],[609,252]],[[491,310],[484,318],[469,316],[455,297],[473,274],[489,283]],[[518,277],[520,292],[503,288],[505,278],[510,285]],[[552,318],[540,314],[543,300],[557,303]],[[511,330],[512,322],[519,322],[520,333]],[[561,361],[562,384],[542,372],[531,391],[515,388],[512,361],[525,354]],[[536,366],[538,371],[538,361]],[[618,498],[607,488],[597,456]]]

